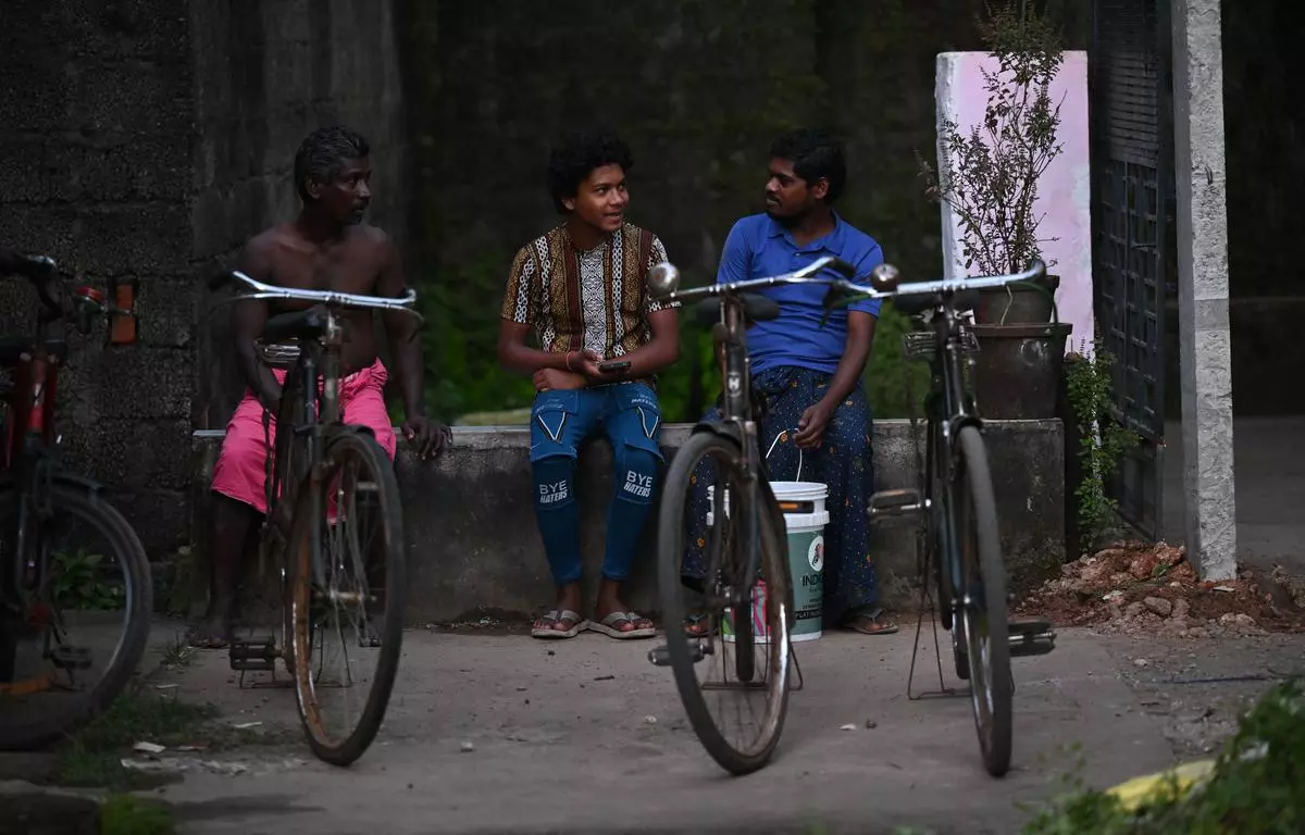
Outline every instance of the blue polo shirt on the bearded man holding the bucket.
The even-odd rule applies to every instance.
[[[783,226],[766,214],[743,218],[729,230],[716,283],[779,275],[801,269],[822,256],[856,265],[859,284],[869,284],[870,270],[883,262],[873,237],[834,214],[834,231],[799,247]],[[847,312],[863,311],[878,318],[878,299],[837,308],[821,326],[825,284],[791,284],[761,292],[779,303],[779,318],[748,329],[748,355],[753,373],[778,365],[797,365],[833,374],[847,344]]]

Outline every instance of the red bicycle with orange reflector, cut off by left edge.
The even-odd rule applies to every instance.
[[[0,386],[0,750],[56,741],[117,698],[145,654],[154,595],[130,523],[97,481],[61,466],[55,431],[64,325],[89,334],[97,317],[134,314],[93,287],[69,299],[46,256],[20,270],[39,309],[33,337],[0,341],[0,367],[16,378]],[[78,522],[98,543],[67,545]],[[124,621],[112,641],[115,613]]]

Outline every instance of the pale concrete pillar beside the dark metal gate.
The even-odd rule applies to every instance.
[[[1237,574],[1228,218],[1219,0],[1173,3],[1173,168],[1188,558]]]

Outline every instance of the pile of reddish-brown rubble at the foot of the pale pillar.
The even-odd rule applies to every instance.
[[[1241,569],[1237,579],[1202,582],[1184,548],[1121,541],[1061,566],[1017,612],[1173,638],[1305,633],[1305,581]]]

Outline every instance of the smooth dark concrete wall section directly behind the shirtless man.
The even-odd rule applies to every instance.
[[[392,14],[388,0],[189,4],[197,270],[232,266],[249,236],[294,219],[295,150],[311,130],[335,123],[371,142],[375,198],[368,219],[389,231],[402,252],[406,138]],[[197,329],[197,428],[226,425],[243,390],[224,347],[227,311]]]

